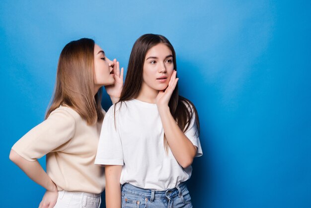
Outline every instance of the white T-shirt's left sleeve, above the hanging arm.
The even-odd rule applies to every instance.
[[[116,113],[117,114],[117,113]],[[107,111],[99,136],[95,164],[123,165],[123,149],[118,133],[118,124],[115,123],[114,105]]]

